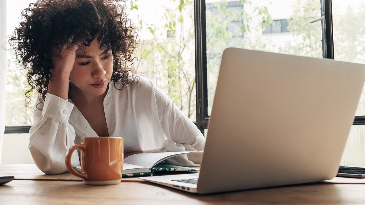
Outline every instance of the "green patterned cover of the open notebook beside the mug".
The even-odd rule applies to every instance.
[[[191,168],[191,167],[183,167],[183,166],[177,166],[177,165],[166,165],[166,164],[157,164],[154,167],[150,168],[150,170],[151,170],[151,172],[122,174],[122,178],[152,176],[154,171],[200,171],[200,169],[195,169],[195,168]]]

